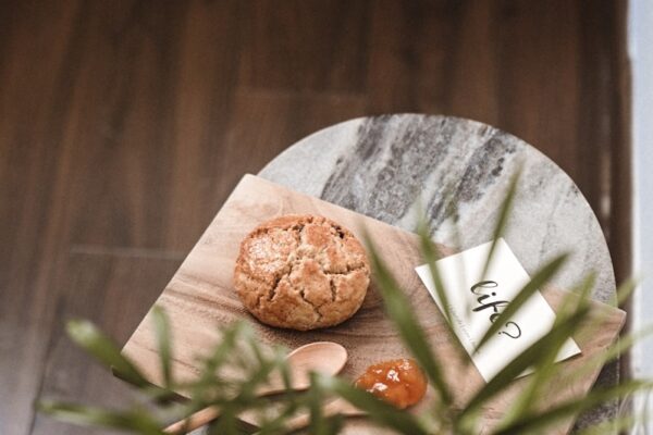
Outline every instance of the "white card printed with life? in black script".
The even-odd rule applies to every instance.
[[[492,243],[468,249],[439,260],[435,265],[446,290],[452,328],[470,355],[475,365],[488,382],[539,338],[551,331],[555,313],[540,291],[504,323],[496,336],[475,353],[490,325],[510,303],[530,277],[515,257],[508,244],[498,239],[492,263],[481,277]],[[442,310],[429,265],[415,269],[429,293]],[[556,361],[580,353],[578,345],[569,338],[557,355]],[[530,373],[526,371],[521,375]]]

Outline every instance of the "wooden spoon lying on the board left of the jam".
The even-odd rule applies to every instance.
[[[298,347],[288,353],[287,362],[291,371],[291,387],[295,390],[307,389],[310,386],[310,372],[325,375],[336,375],[347,362],[347,350],[332,341],[316,341]],[[270,384],[259,388],[258,396],[267,396],[284,391],[285,385],[281,378],[272,378]],[[215,420],[220,409],[205,408],[163,430],[165,434],[183,434],[194,431]]]

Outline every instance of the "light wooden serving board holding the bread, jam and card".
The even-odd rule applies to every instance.
[[[452,380],[451,388],[456,406],[463,406],[483,385],[483,380],[473,364],[455,363],[459,353],[453,345],[444,318],[414,270],[423,263],[419,256],[417,236],[252,175],[245,175],[236,186],[156,302],[170,316],[175,376],[182,380],[194,378],[197,375],[196,357],[202,350],[211,348],[218,339],[217,326],[243,318],[251,320],[264,343],[282,344],[289,349],[319,340],[342,344],[349,352],[343,374],[352,378],[372,363],[409,355],[384,314],[373,279],[358,313],[345,323],[325,330],[296,332],[269,327],[258,323],[243,308],[232,285],[241,240],[259,223],[292,213],[328,216],[359,237],[361,229],[367,229],[411,300],[438,358],[446,361],[443,369],[446,378]],[[445,247],[439,248],[442,253],[451,253]],[[555,309],[565,293],[547,288],[543,294]],[[601,366],[596,363],[591,365],[592,357],[604,351],[616,339],[624,324],[625,313],[595,302],[592,315],[602,316],[603,325],[581,328],[574,336],[582,353],[560,363],[560,375],[543,391],[544,403],[552,406],[584,395],[599,375]],[[152,383],[160,385],[160,365],[153,337],[152,321],[148,314],[125,345],[123,353],[134,360]],[[587,370],[584,377],[570,376],[571,371],[583,365]],[[496,424],[527,381],[528,376],[514,381],[484,410],[483,433]],[[177,393],[183,395],[183,391]],[[429,395],[432,396],[433,391]],[[422,400],[421,406],[427,402],[428,400]],[[551,433],[565,434],[571,424],[571,420],[565,421]],[[365,419],[353,419],[347,425],[347,432],[380,433],[378,427],[370,426]]]

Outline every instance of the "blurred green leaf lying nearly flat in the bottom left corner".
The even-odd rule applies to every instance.
[[[145,411],[108,411],[79,405],[40,401],[37,410],[69,423],[118,428],[143,435],[161,435],[160,425]]]

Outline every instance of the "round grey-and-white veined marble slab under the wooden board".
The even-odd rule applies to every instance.
[[[422,210],[435,241],[467,249],[492,239],[518,167],[521,177],[504,236],[517,258],[532,274],[570,252],[553,283],[570,289],[595,271],[593,298],[614,304],[609,252],[578,187],[535,148],[489,125],[418,114],[356,119],[296,142],[259,175],[407,231]],[[446,198],[457,203],[457,216],[444,207]],[[609,364],[597,383],[613,384],[617,374],[618,365]],[[616,409],[602,407],[579,425],[614,417]]]

